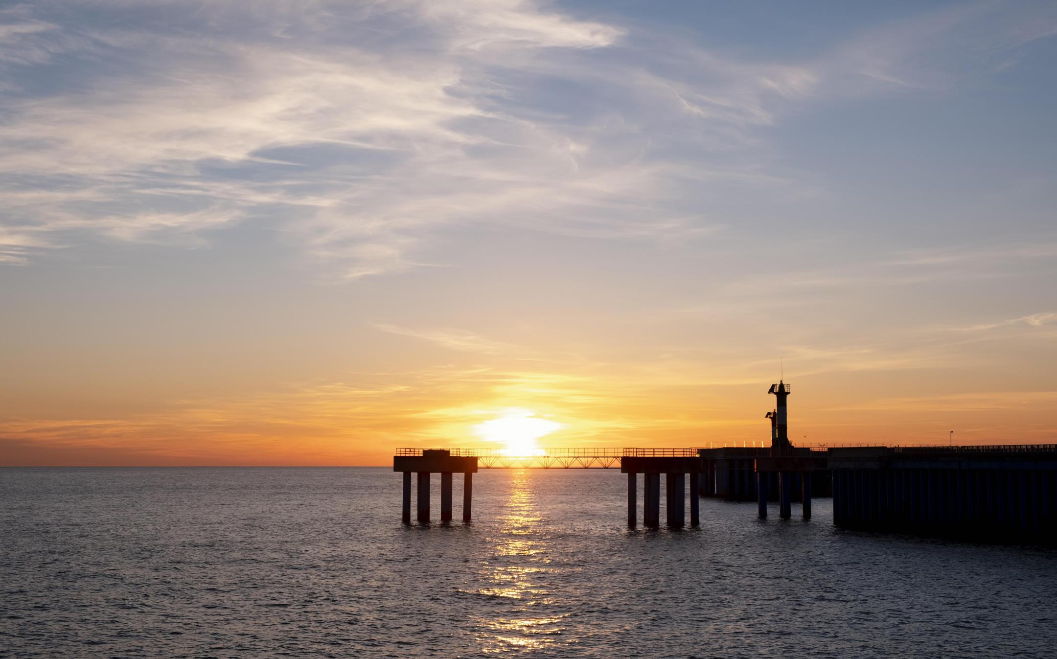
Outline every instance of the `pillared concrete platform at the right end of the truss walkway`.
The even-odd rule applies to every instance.
[[[672,449],[644,449],[639,455],[620,458],[620,473],[628,475],[628,526],[638,523],[638,474],[643,475],[643,525],[655,529],[661,526],[661,474],[665,475],[665,508],[668,527],[682,528],[686,523],[686,480],[690,477],[690,526],[701,523],[698,508],[698,475],[701,459],[696,451]],[[676,455],[678,454],[678,455]]]

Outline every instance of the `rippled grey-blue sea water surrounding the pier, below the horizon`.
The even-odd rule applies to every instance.
[[[829,499],[629,531],[626,482],[482,471],[471,525],[405,527],[384,469],[0,470],[0,656],[1057,654],[1053,550],[842,531]]]

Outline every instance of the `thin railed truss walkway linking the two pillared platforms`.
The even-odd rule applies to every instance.
[[[429,449],[426,449],[429,451]],[[697,449],[541,449],[536,455],[509,455],[489,449],[450,449],[452,457],[475,457],[479,469],[619,469],[623,457],[697,457]],[[422,455],[397,449],[397,456]]]

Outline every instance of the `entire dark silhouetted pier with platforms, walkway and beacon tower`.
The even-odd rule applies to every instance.
[[[397,449],[393,471],[403,472],[403,520],[411,523],[411,474],[418,474],[418,520],[429,521],[429,478],[441,473],[441,520],[451,520],[451,475],[464,474],[463,520],[470,520],[472,475],[478,469],[613,469],[628,476],[628,526],[638,524],[643,475],[643,525],[700,525],[699,497],[756,501],[756,514],[812,517],[812,500],[833,497],[833,521],[853,529],[1057,544],[1057,444],[994,446],[805,447],[789,440],[790,385],[771,385],[777,405],[767,447],[543,449],[532,455],[477,449]],[[761,442],[762,443],[762,442]],[[689,482],[687,482],[689,481]]]

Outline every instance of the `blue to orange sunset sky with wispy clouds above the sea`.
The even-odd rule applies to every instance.
[[[1055,36],[1030,1],[2,3],[0,464],[764,445],[780,378],[795,444],[1055,442]]]

